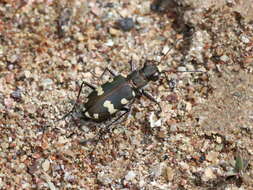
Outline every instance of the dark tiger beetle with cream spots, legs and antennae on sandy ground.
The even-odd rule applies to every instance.
[[[178,40],[177,40],[178,41]],[[177,42],[176,41],[176,42]],[[165,53],[161,60],[163,60],[170,49]],[[104,126],[99,130],[97,137],[85,140],[80,142],[81,144],[86,144],[87,142],[92,142],[95,140],[95,146],[93,147],[90,156],[92,156],[97,143],[102,138],[103,134],[106,134],[110,131],[109,126],[115,124],[120,118],[127,116],[130,113],[131,107],[135,102],[136,98],[141,96],[147,97],[149,100],[154,102],[159,110],[158,113],[161,112],[161,106],[156,101],[156,99],[143,88],[149,82],[158,81],[161,74],[165,74],[166,72],[201,72],[201,71],[175,71],[175,70],[163,70],[159,69],[159,64],[155,63],[156,61],[145,61],[144,66],[140,69],[135,69],[133,61],[131,59],[131,73],[126,77],[123,75],[117,75],[113,70],[106,68],[102,73],[101,77],[107,71],[109,72],[113,78],[102,84],[101,86],[95,87],[92,84],[83,81],[81,87],[78,92],[77,100],[79,100],[81,91],[83,86],[89,87],[92,92],[87,96],[87,102],[83,104],[79,104],[76,100],[72,110],[67,113],[62,119],[66,118],[69,114],[75,111],[76,107],[80,107],[80,112],[82,118],[87,121],[94,122],[105,122],[116,115],[117,112],[123,112],[112,122]],[[165,75],[166,76],[166,75]],[[100,77],[100,78],[101,78]],[[167,77],[166,80],[169,82]],[[126,119],[127,117],[125,117]]]

